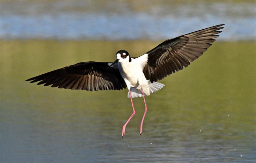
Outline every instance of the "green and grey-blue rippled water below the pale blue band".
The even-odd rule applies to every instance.
[[[127,90],[87,92],[26,79],[81,61],[137,57],[160,42],[4,41],[1,162],[255,162],[255,42],[216,42],[132,113]],[[152,143],[152,144],[151,144]]]

